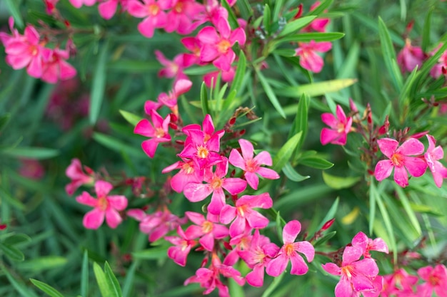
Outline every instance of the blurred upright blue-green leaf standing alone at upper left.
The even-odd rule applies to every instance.
[[[98,62],[93,73],[93,81],[90,93],[90,114],[91,125],[95,125],[98,120],[101,105],[104,100],[104,90],[106,89],[106,63],[109,54],[109,41],[106,41],[99,52]]]

